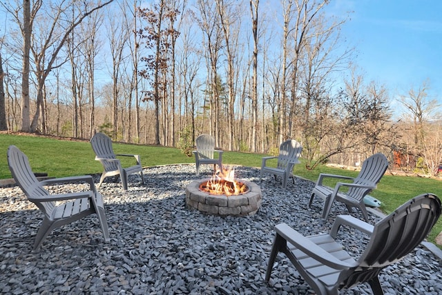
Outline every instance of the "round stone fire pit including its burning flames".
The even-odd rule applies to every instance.
[[[221,188],[220,188],[221,187]],[[242,179],[212,176],[186,185],[186,207],[203,214],[247,216],[261,207],[261,189]]]

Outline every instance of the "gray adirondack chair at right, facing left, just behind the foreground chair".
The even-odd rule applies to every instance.
[[[323,214],[321,216],[323,221],[329,216],[333,202],[340,201],[345,203],[349,212],[352,212],[352,207],[357,207],[361,210],[365,221],[369,222],[364,197],[376,188],[376,185],[385,174],[387,167],[387,158],[383,154],[378,153],[365,159],[361,171],[356,178],[334,174],[319,174],[318,181],[316,181],[316,185],[311,191],[309,207],[311,207],[314,196],[320,196],[320,198],[325,201]],[[323,180],[325,178],[347,179],[351,182],[338,182],[335,187],[332,188],[323,185]],[[347,192],[345,192],[346,189],[348,189]]]

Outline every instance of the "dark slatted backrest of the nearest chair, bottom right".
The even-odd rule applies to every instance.
[[[376,223],[367,248],[358,259],[359,266],[349,270],[352,274],[343,286],[369,281],[384,267],[400,261],[430,233],[441,210],[437,196],[421,194]]]

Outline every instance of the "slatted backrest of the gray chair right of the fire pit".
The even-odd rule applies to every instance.
[[[354,183],[361,185],[376,185],[387,171],[388,160],[384,154],[378,153],[365,159],[361,172],[354,179]],[[361,201],[368,194],[370,189],[350,187],[347,195]]]

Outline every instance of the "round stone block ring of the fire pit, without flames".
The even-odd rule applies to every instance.
[[[245,183],[249,190],[243,194],[227,196],[202,192],[200,184],[209,180],[200,179],[186,185],[186,207],[188,209],[218,216],[247,216],[255,214],[260,209],[261,189],[256,183],[238,179],[238,181]]]

